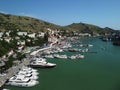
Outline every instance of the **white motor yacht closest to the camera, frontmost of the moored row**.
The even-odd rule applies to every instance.
[[[32,87],[38,83],[39,83],[38,81],[32,80],[23,75],[15,75],[6,82],[6,85],[13,85],[13,86],[19,86],[19,87]]]

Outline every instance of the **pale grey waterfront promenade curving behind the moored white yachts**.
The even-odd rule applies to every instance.
[[[23,66],[29,65],[29,63],[30,63],[30,61],[31,61],[31,56],[34,56],[34,55],[36,55],[37,53],[42,52],[42,51],[44,51],[44,50],[49,50],[49,49],[51,49],[54,44],[56,44],[56,42],[51,43],[51,45],[50,45],[49,47],[40,48],[40,49],[38,49],[38,50],[35,50],[35,51],[29,53],[29,55],[27,55],[27,57],[24,58],[21,63],[18,63],[17,66],[12,66],[11,68],[9,68],[9,69],[7,70],[6,75],[0,76],[0,90],[3,89],[6,81],[7,81],[8,79],[10,79],[13,75],[15,75],[17,72],[19,72],[19,70],[20,70]]]

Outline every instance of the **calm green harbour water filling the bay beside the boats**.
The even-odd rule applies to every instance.
[[[120,47],[98,38],[82,39],[93,44],[84,59],[49,59],[57,67],[38,69],[39,84],[32,88],[7,86],[10,90],[120,90]],[[67,52],[65,52],[67,53]],[[72,53],[69,53],[72,54]]]

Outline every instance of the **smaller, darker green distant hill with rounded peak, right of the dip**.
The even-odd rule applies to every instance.
[[[92,24],[85,24],[85,23],[73,23],[71,25],[66,26],[68,28],[74,29],[75,31],[82,32],[82,33],[91,33],[91,34],[105,34],[105,33],[111,33],[114,32],[113,29],[110,29],[108,27],[101,28],[96,25]]]

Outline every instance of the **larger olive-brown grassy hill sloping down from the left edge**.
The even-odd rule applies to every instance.
[[[60,26],[27,16],[16,16],[0,13],[0,30],[44,31],[46,28],[56,29]]]

